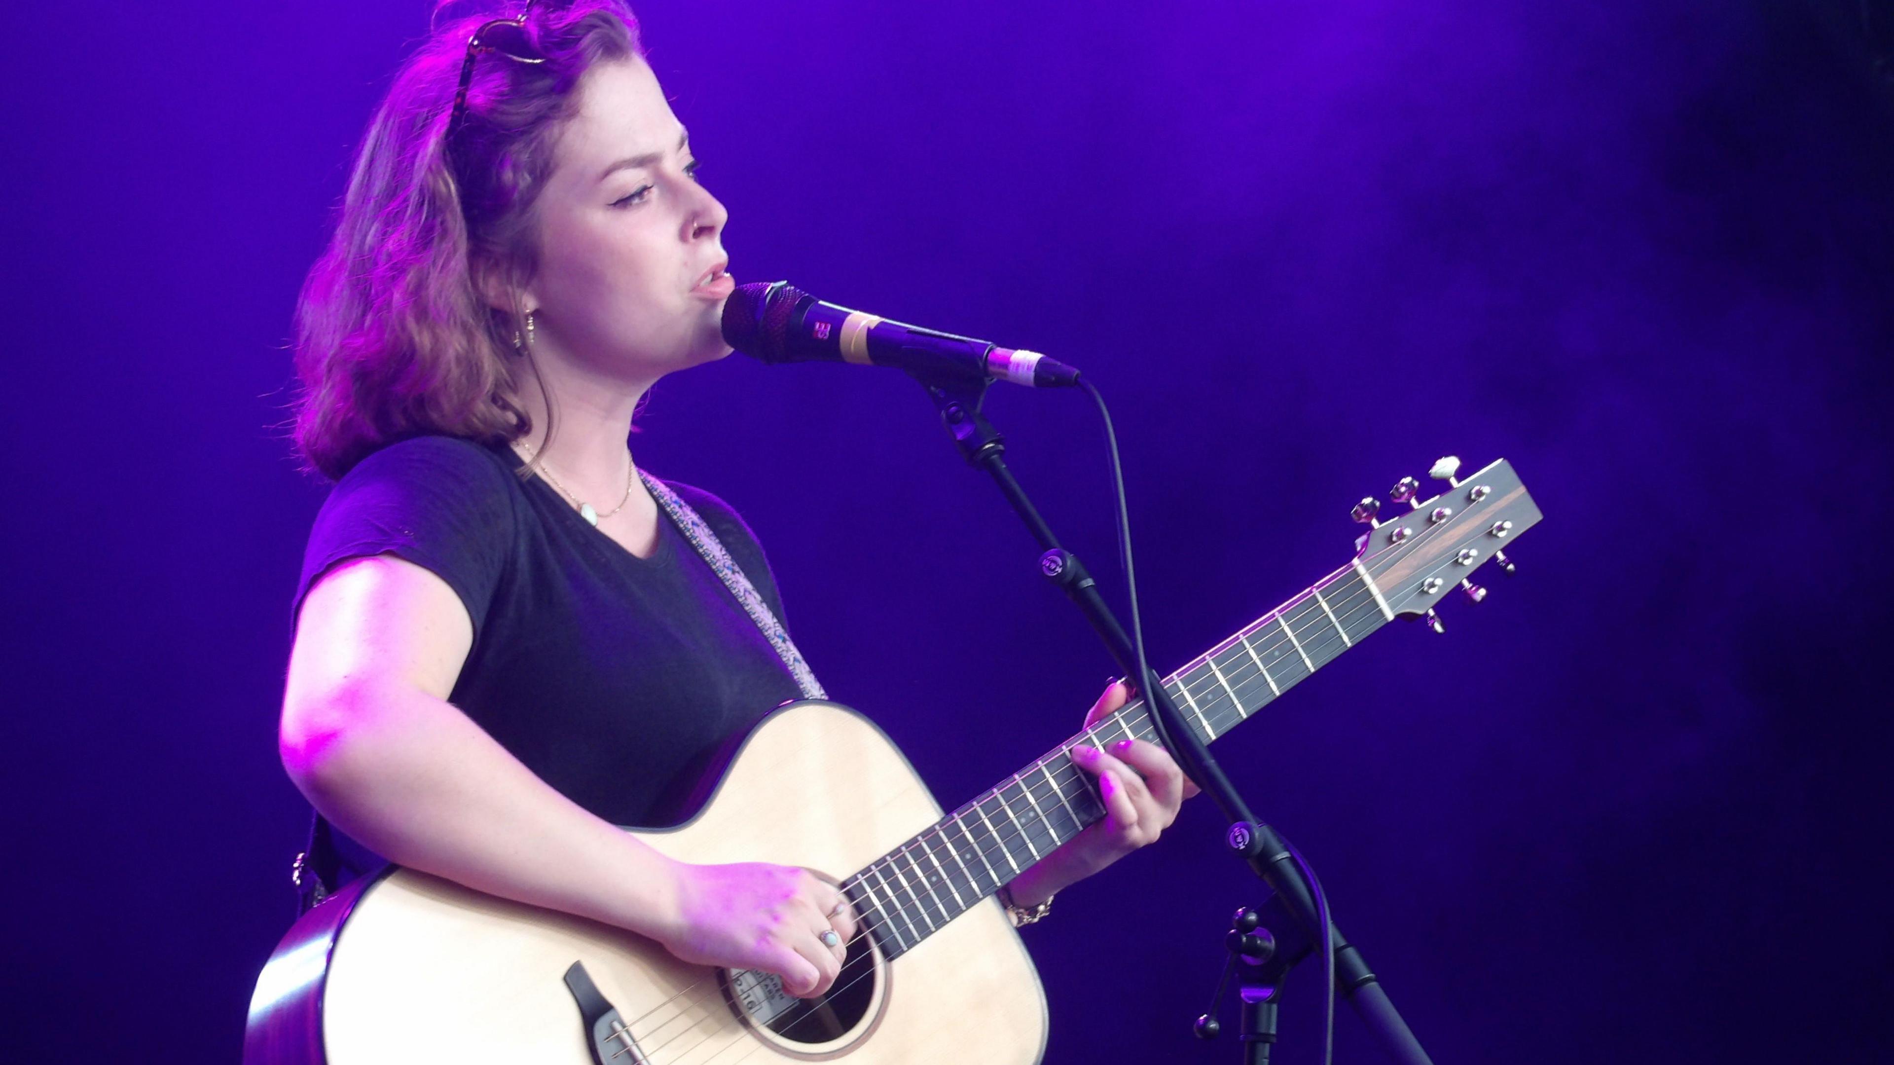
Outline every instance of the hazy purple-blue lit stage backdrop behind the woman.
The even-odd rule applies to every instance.
[[[744,280],[1053,352],[1116,404],[1153,665],[1347,559],[1441,453],[1519,578],[1218,747],[1436,1061],[1869,1061],[1894,135],[1792,2],[640,6]],[[231,1061],[290,919],[275,758],[322,487],[284,337],[420,4],[9,15],[6,1018]],[[996,394],[1121,587],[1076,394]],[[735,502],[837,697],[956,805],[1110,661],[919,390],[731,358],[640,462]],[[1197,1046],[1258,898],[1191,803],[1032,929],[1047,1061]],[[1314,970],[1278,1061],[1316,1061]],[[1225,1010],[1225,1021],[1233,1012]],[[1345,1061],[1371,1056],[1347,1012]]]

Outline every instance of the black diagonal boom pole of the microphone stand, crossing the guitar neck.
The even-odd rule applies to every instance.
[[[979,409],[987,398],[991,381],[981,379],[975,383],[915,370],[909,370],[909,375],[926,388],[928,396],[939,407],[941,421],[960,447],[960,455],[975,470],[985,470],[992,476],[992,481],[1000,487],[1000,495],[1006,496],[1006,502],[1019,514],[1027,531],[1038,540],[1044,551],[1040,555],[1040,572],[1057,584],[1066,593],[1066,599],[1080,608],[1093,631],[1099,633],[1099,639],[1104,641],[1106,650],[1117,659],[1123,675],[1136,677],[1136,650],[1131,646],[1131,639],[1112,614],[1112,608],[1099,595],[1097,582],[1085,572],[1078,555],[1059,546],[1059,538],[1053,536],[1051,527],[1040,517],[1038,508],[1032,506],[1027,491],[1013,479],[1013,472],[1002,459],[1006,442]],[[1224,775],[1222,766],[1210,758],[1210,750],[1178,713],[1155,671],[1150,677],[1140,677],[1138,694],[1153,711],[1152,722],[1157,728],[1159,739],[1163,739],[1165,747],[1182,764],[1184,773],[1210,796],[1229,821],[1229,830],[1224,836],[1225,845],[1275,893],[1309,942],[1320,944],[1322,919],[1316,912],[1314,893],[1309,889],[1309,881],[1303,877],[1288,845],[1269,824],[1263,824],[1250,813],[1237,786]],[[1367,968],[1362,951],[1343,938],[1341,929],[1335,929],[1333,923],[1330,923],[1328,930],[1335,949],[1335,989],[1349,999],[1362,1023],[1367,1025],[1367,1031],[1394,1061],[1403,1065],[1432,1065],[1413,1031],[1407,1029],[1407,1021],[1394,1010],[1386,991],[1381,989],[1381,982]],[[1271,1040],[1273,1037],[1275,1033],[1269,1033]],[[1267,1044],[1250,1042],[1248,1046],[1267,1054]]]

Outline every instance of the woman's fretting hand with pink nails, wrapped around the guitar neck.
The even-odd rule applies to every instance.
[[[1129,697],[1129,686],[1114,680],[1085,714],[1085,726],[1091,728],[1106,714],[1117,713]],[[1144,739],[1119,739],[1102,749],[1074,747],[1072,764],[1099,777],[1104,819],[1013,877],[1010,889],[1015,906],[1038,906],[1055,891],[1157,841],[1157,836],[1176,821],[1178,805],[1197,794],[1197,785],[1178,769],[1170,752]]]

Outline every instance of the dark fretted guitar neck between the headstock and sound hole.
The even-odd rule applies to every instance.
[[[1163,680],[1186,724],[1212,743],[1394,618],[1350,563],[1239,629]],[[945,927],[1087,824],[1104,817],[1080,743],[1155,739],[1142,699],[1072,735],[998,786],[843,881],[892,959]]]

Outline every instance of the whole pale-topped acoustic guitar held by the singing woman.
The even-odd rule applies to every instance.
[[[1379,519],[1356,557],[1163,680],[1214,741],[1396,616],[1439,627],[1474,570],[1511,570],[1504,548],[1540,512],[1494,462]],[[652,940],[390,868],[305,913],[263,966],[248,1065],[849,1065],[1038,1061],[1045,997],[992,898],[1000,885],[1104,817],[1076,743],[1152,739],[1133,701],[979,798],[941,813],[902,752],[837,703],[767,716],[686,824],[633,830],[686,862],[778,862],[831,877],[862,932],[816,1001],[777,976],[686,965]],[[782,802],[794,794],[795,802]]]

